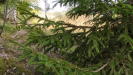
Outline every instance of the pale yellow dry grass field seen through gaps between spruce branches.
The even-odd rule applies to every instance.
[[[41,17],[43,17],[43,16],[41,16]],[[47,17],[48,17],[48,19],[53,20],[53,21],[64,21],[67,24],[72,24],[72,25],[75,25],[75,26],[91,27],[93,25],[93,22],[91,21],[93,19],[92,15],[90,15],[88,17],[86,17],[85,15],[82,15],[82,16],[70,19],[65,15],[65,12],[52,12],[52,13],[47,13]],[[34,18],[34,19],[30,20],[29,22],[31,24],[38,24],[38,20],[39,19]],[[44,21],[40,21],[39,23],[42,24],[43,22]],[[45,32],[49,31],[49,29],[53,29],[53,27],[50,26],[49,28],[47,28],[45,30]],[[77,31],[80,32],[80,31],[83,31],[83,30],[79,28],[79,29],[76,30],[76,32]]]

